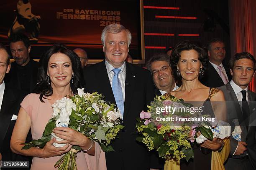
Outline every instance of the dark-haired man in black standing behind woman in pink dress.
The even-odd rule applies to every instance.
[[[14,33],[9,37],[10,51],[15,60],[5,77],[8,86],[31,93],[36,86],[38,62],[30,59],[31,46],[29,38],[22,33]]]

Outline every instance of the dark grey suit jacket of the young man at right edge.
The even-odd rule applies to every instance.
[[[241,124],[243,124],[243,113],[241,110],[241,107],[239,105],[239,102],[237,100],[236,94],[232,88],[232,86],[230,85],[230,83],[228,82],[226,85],[222,86],[222,87],[218,87],[220,90],[223,91],[224,96],[225,96],[225,101],[226,102],[226,106],[227,106],[227,120],[228,123],[230,123],[231,125],[231,133],[234,131],[234,123],[233,120],[234,119],[238,119],[242,133],[241,133],[241,138],[242,141],[246,142],[248,144],[247,146],[247,152],[248,152],[248,156],[249,158],[253,158],[255,159],[256,157],[256,152],[252,152],[251,149],[253,149],[253,147],[255,147],[256,143],[255,143],[255,127],[251,126],[251,122],[255,119],[255,114],[253,113],[253,110],[255,110],[256,106],[255,106],[255,99],[256,99],[256,93],[248,90],[248,105],[250,107],[250,111],[251,111],[251,116],[248,117],[249,119],[249,127],[248,130],[246,128],[246,126],[243,126]],[[246,152],[241,154],[241,155],[233,155],[233,153],[235,152],[236,148],[238,145],[238,141],[232,138],[232,134],[230,136],[230,156],[232,158],[241,158],[246,156]],[[253,161],[254,162],[254,161]],[[255,163],[255,162],[254,162]],[[255,166],[256,168],[256,166]]]

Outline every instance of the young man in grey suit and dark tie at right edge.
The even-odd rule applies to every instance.
[[[256,69],[256,60],[248,52],[241,52],[234,55],[230,60],[230,72],[232,80],[222,87],[225,100],[227,101],[227,120],[231,125],[232,135],[230,137],[230,157],[225,163],[227,170],[253,170],[256,169],[255,157],[253,151],[256,147],[255,127],[251,126],[253,121],[251,114],[255,110],[256,93],[248,90],[248,84],[251,82]],[[235,120],[238,126],[235,129]],[[236,133],[236,134],[235,134]],[[241,133],[241,138],[238,138]]]

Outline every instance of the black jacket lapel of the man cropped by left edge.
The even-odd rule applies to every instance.
[[[5,134],[12,119],[13,114],[10,112],[10,108],[12,107],[14,102],[15,96],[13,92],[5,86],[3,102],[0,110],[0,144],[3,143],[3,139],[5,138]]]

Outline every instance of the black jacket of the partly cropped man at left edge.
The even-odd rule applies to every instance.
[[[13,90],[5,85],[3,102],[0,110],[0,153],[3,161],[32,161],[31,157],[17,155],[10,150],[10,138],[16,120],[11,120],[13,115],[18,115],[20,103],[26,93],[20,90]],[[11,168],[7,168],[11,170]],[[28,169],[28,168],[24,168]]]

